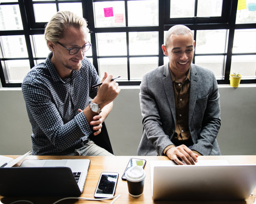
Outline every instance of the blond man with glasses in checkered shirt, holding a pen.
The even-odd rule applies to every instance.
[[[86,20],[69,11],[57,12],[46,26],[51,52],[22,84],[33,155],[112,155],[89,136],[100,134],[120,88],[112,75],[104,73],[100,80],[85,57],[91,47],[88,33]]]

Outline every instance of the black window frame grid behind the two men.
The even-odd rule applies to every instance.
[[[236,24],[236,14],[237,14],[237,5],[238,0],[223,0],[222,5],[222,15],[219,17],[190,17],[190,18],[170,18],[170,0],[158,0],[158,25],[154,26],[141,26],[141,27],[129,27],[128,26],[128,12],[127,12],[127,2],[133,0],[112,0],[112,1],[123,1],[125,5],[125,27],[111,27],[111,28],[95,28],[94,24],[94,9],[93,2],[108,2],[109,0],[79,0],[79,1],[38,1],[33,2],[32,0],[18,0],[17,3],[1,3],[1,5],[18,5],[20,10],[20,15],[22,17],[23,22],[23,30],[13,30],[13,31],[0,31],[0,36],[5,35],[24,35],[26,40],[26,46],[28,50],[28,58],[1,58],[1,61],[8,60],[20,60],[27,59],[29,60],[30,67],[35,66],[35,60],[44,60],[45,58],[37,58],[33,56],[32,52],[32,44],[30,36],[44,34],[45,24],[47,22],[35,22],[33,4],[49,4],[55,3],[57,11],[58,3],[76,3],[79,2],[82,4],[82,12],[83,17],[88,21],[88,27],[91,31],[91,43],[92,43],[92,60],[93,64],[99,73],[98,67],[98,59],[100,58],[117,58],[117,57],[125,57],[127,58],[127,81],[118,81],[119,85],[130,86],[130,85],[139,85],[140,81],[131,80],[130,79],[130,58],[133,57],[158,57],[158,65],[162,65],[164,63],[164,55],[162,52],[162,44],[164,43],[164,31],[167,31],[170,27],[175,24],[184,24],[191,30],[195,32],[195,40],[196,40],[196,32],[198,30],[218,30],[225,29],[228,30],[228,46],[227,52],[221,53],[218,55],[224,55],[226,58],[225,61],[225,73],[223,79],[218,79],[218,84],[229,84],[229,73],[231,67],[231,58],[236,55],[256,55],[256,53],[236,53],[232,54],[233,47],[233,38],[234,31],[237,29],[254,29],[256,27],[256,23],[243,23]],[[143,1],[143,0],[142,0]],[[195,16],[197,13],[197,3],[198,0],[195,0]],[[129,54],[129,32],[158,32],[158,55],[130,55]],[[97,54],[97,46],[96,46],[96,34],[97,33],[107,33],[107,32],[125,32],[126,33],[126,46],[127,46],[127,55],[125,56],[98,56]],[[212,56],[213,54],[197,54],[195,52],[195,56]],[[195,62],[195,58],[194,58]],[[21,87],[21,83],[6,83],[4,69],[2,67],[2,63],[0,63],[0,78],[3,87]],[[243,79],[241,80],[241,84],[250,84],[256,83],[256,78],[254,79]]]

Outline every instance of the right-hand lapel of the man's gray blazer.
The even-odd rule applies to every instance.
[[[194,108],[197,101],[198,88],[199,88],[199,85],[198,85],[197,71],[196,71],[196,68],[194,67],[194,64],[191,64],[188,124],[190,124],[192,115],[194,113]]]

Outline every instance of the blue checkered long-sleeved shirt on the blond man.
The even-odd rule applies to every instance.
[[[52,53],[46,61],[33,67],[26,75],[22,92],[32,125],[33,155],[57,154],[81,143],[93,132],[84,114],[89,96],[94,98],[100,82],[92,63],[85,57],[71,78],[61,79],[52,62]]]

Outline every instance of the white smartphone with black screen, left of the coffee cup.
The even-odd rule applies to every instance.
[[[102,172],[94,193],[95,198],[113,197],[118,180],[117,172]]]

